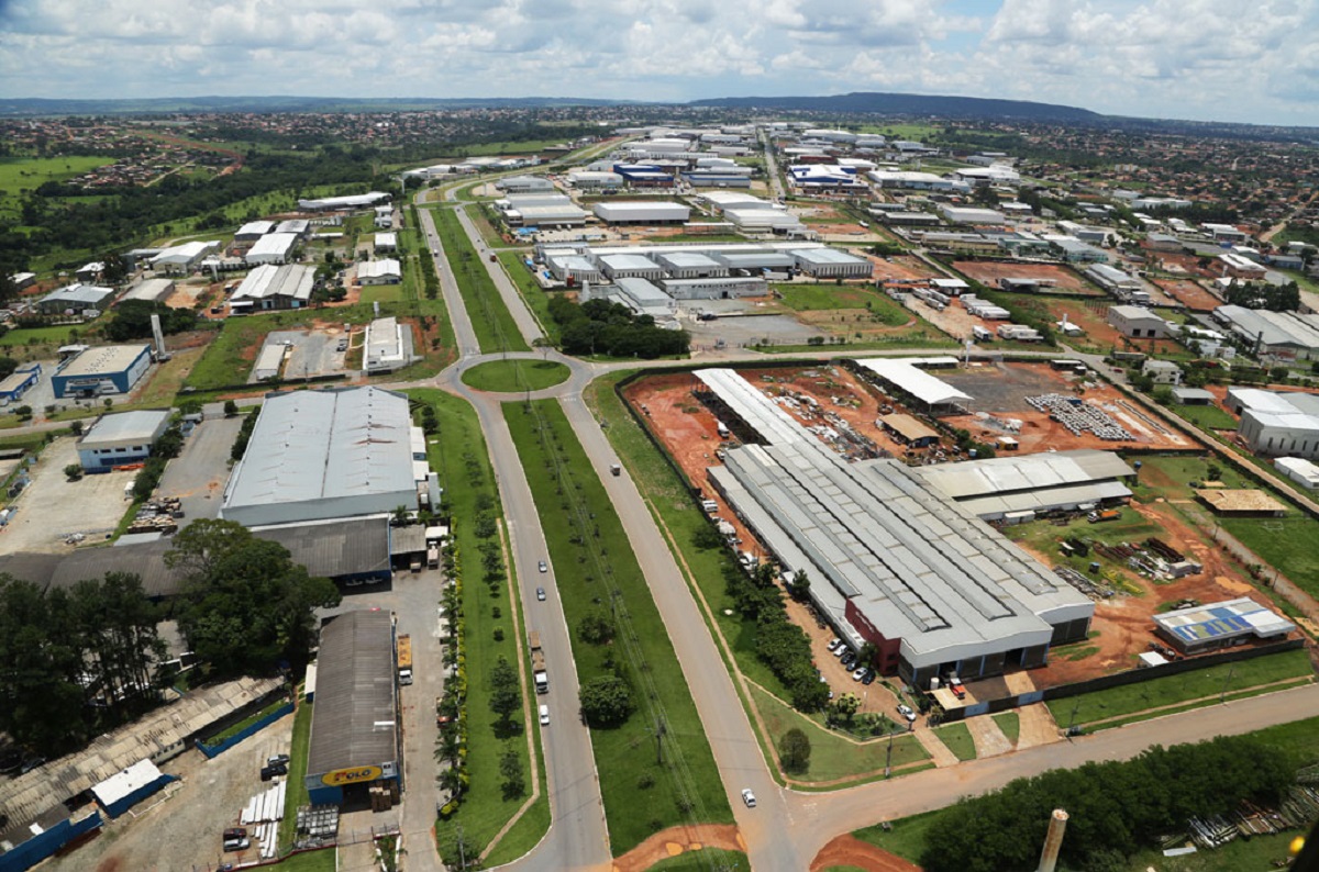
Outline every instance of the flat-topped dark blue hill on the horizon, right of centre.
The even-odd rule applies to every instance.
[[[921,94],[855,92],[827,97],[719,97],[689,105],[739,109],[795,109],[816,112],[872,112],[876,115],[931,115],[940,119],[1004,119],[1017,121],[1093,123],[1105,116],[1089,109],[1028,100],[987,100]]]

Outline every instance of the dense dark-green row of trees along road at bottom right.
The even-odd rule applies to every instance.
[[[931,827],[926,872],[1034,869],[1054,809],[1070,815],[1062,861],[1087,872],[1126,869],[1126,859],[1192,817],[1228,814],[1242,800],[1275,802],[1291,785],[1286,755],[1250,736],[1155,746],[1124,763],[1087,763],[1018,778],[962,800]]]

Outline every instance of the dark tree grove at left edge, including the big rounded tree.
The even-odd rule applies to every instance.
[[[315,643],[313,610],[339,602],[331,581],[233,522],[194,522],[165,562],[183,574],[168,603],[133,573],[70,587],[0,574],[0,731],[50,757],[158,705],[177,677],[157,630],[169,616],[206,678],[298,673]]]

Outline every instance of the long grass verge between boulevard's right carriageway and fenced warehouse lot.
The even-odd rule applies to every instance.
[[[744,618],[732,607],[733,598],[728,595],[724,584],[724,566],[733,560],[731,552],[725,548],[700,549],[692,544],[696,531],[710,524],[710,520],[613,390],[615,385],[633,371],[595,379],[587,386],[586,402],[605,425],[604,432],[619,458],[627,464],[632,481],[677,543],[679,565],[686,564],[691,570],[691,581],[700,589],[719,631],[732,648],[737,668],[770,693],[787,697],[787,688],[756,655],[756,620]],[[728,615],[725,611],[733,614]]]

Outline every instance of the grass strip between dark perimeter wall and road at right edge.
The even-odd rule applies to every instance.
[[[1229,672],[1232,673],[1231,680]],[[1136,714],[1159,706],[1173,706],[1202,697],[1212,697],[1216,701],[1224,688],[1232,694],[1242,689],[1312,674],[1310,656],[1304,651],[1286,651],[1254,660],[1219,664],[1163,678],[1097,690],[1079,697],[1053,699],[1046,705],[1054,721],[1066,728],[1072,723],[1086,724],[1092,721]],[[1075,721],[1072,710],[1076,711]],[[1158,714],[1161,713],[1150,717]]]

